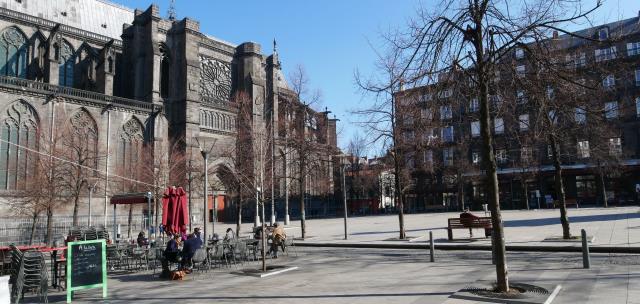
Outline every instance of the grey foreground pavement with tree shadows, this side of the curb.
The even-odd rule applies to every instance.
[[[478,280],[491,280],[489,252],[298,248],[298,256],[269,263],[299,269],[268,278],[217,269],[185,281],[161,281],[150,273],[109,278],[105,303],[443,303]],[[553,303],[640,303],[640,255],[594,254],[582,269],[580,253],[509,253],[514,282],[561,285]],[[103,302],[99,290],[81,291],[74,303]],[[50,302],[64,301],[55,292]],[[26,299],[31,303],[31,298]],[[469,303],[469,302],[466,302]]]

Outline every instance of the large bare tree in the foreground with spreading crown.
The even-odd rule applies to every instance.
[[[552,29],[579,21],[600,7],[585,9],[575,1],[445,0],[435,10],[421,9],[406,31],[387,36],[390,53],[398,58],[389,82],[360,81],[374,92],[389,90],[404,81],[415,85],[433,83],[434,77],[459,69],[475,87],[480,108],[483,167],[493,224],[497,290],[509,291],[504,231],[500,213],[494,140],[491,132],[489,95],[501,61],[514,48],[549,37]]]

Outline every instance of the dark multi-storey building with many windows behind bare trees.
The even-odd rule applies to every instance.
[[[490,84],[501,207],[545,208],[558,199],[550,134],[562,135],[559,158],[569,201],[637,204],[640,16],[574,35],[555,32],[541,44],[552,50],[545,54],[549,66],[532,63],[539,54],[531,50],[543,47],[515,47]],[[570,85],[558,81],[554,67],[571,75],[565,81]],[[539,88],[526,81],[532,78]],[[407,211],[481,209],[486,203],[475,91],[468,74],[453,70],[395,95]]]

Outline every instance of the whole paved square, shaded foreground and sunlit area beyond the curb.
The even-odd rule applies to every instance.
[[[640,213],[637,207],[571,209],[572,231],[586,229],[595,237],[592,246],[640,246]],[[558,210],[506,211],[506,238],[510,245],[554,245],[545,242],[559,236]],[[446,219],[457,213],[406,216],[407,234],[420,237],[432,230],[437,242],[447,241]],[[299,227],[289,226],[298,235]],[[218,224],[216,231],[232,225]],[[416,249],[312,248],[303,243],[343,243],[342,219],[308,221],[305,241],[298,241],[297,255],[268,260],[270,265],[297,266],[296,270],[267,278],[240,274],[257,269],[252,262],[191,275],[185,281],[163,281],[150,272],[118,273],[109,277],[109,299],[105,303],[486,303],[450,298],[474,283],[495,279],[495,266],[488,251],[436,251],[435,263],[428,251]],[[248,231],[249,225],[243,226]],[[349,242],[400,243],[397,216],[349,219]],[[458,230],[456,244],[487,243],[468,239]],[[417,243],[422,242],[417,239]],[[403,243],[406,243],[403,242]],[[579,243],[572,242],[579,246]],[[592,254],[591,269],[583,269],[579,252],[509,252],[512,282],[561,289],[553,303],[640,303],[640,255]],[[102,302],[97,291],[78,292],[74,303]],[[63,302],[64,293],[54,292],[50,302]],[[33,298],[27,298],[27,302]],[[505,303],[496,301],[496,303]]]

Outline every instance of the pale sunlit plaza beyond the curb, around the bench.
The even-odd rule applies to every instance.
[[[484,216],[482,211],[474,214]],[[585,229],[593,236],[592,246],[640,247],[640,208],[570,208],[568,211],[572,235],[580,235]],[[449,243],[447,240],[447,219],[458,217],[459,212],[423,213],[405,215],[405,229],[408,237],[422,237],[416,242],[426,240],[429,231],[433,231],[437,243]],[[488,216],[488,215],[487,215]],[[507,210],[502,211],[505,225],[505,238],[508,245],[545,245],[561,246],[567,242],[548,242],[547,238],[561,237],[559,209]],[[222,226],[222,228],[219,228]],[[251,231],[252,224],[243,224],[243,231]],[[300,236],[300,221],[292,221],[288,234]],[[235,225],[221,224],[216,231],[224,231]],[[377,242],[398,237],[398,216],[366,216],[348,219],[349,242]],[[482,230],[474,231],[474,239],[469,240],[466,230],[454,230],[454,243],[490,244],[484,238]],[[307,221],[308,242],[341,242],[344,238],[342,218],[317,219]],[[573,244],[575,242],[571,242]],[[577,244],[579,245],[579,244]]]

